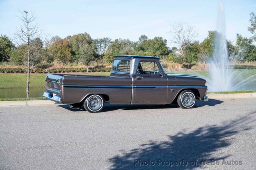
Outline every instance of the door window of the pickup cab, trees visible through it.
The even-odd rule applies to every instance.
[[[140,61],[137,74],[156,74],[159,72],[155,61]]]

